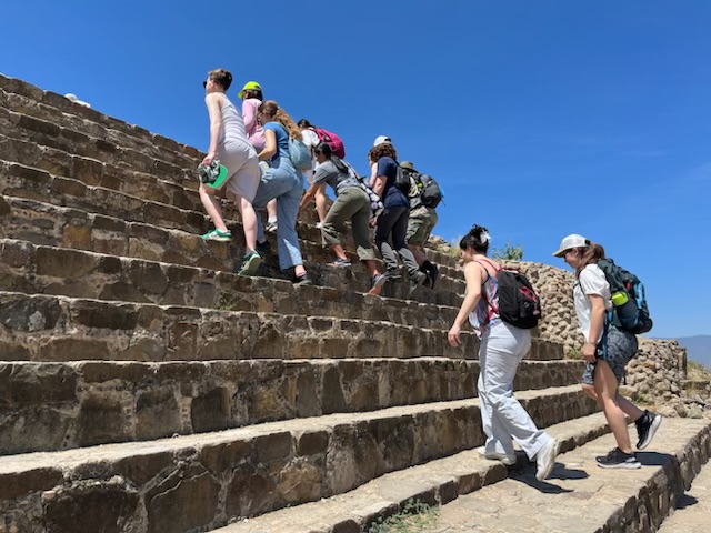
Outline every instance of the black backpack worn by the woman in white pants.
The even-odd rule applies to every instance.
[[[499,313],[501,320],[515,328],[535,328],[541,320],[541,301],[531,282],[518,270],[500,268],[498,272],[499,309],[489,302],[491,309]]]

